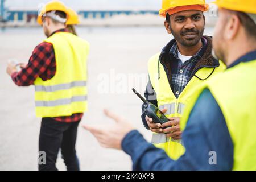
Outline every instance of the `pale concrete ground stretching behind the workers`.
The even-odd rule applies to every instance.
[[[131,88],[143,93],[147,61],[172,38],[164,27],[78,28],[90,42],[88,57],[89,111],[79,126],[77,155],[82,170],[130,170],[131,160],[122,151],[100,147],[82,123],[111,123],[102,109],[129,119],[147,140],[150,132],[141,122],[141,100]],[[207,28],[206,34],[211,34]],[[6,73],[7,60],[27,62],[42,42],[41,28],[9,28],[0,32],[0,170],[37,170],[40,118],[35,117],[34,86],[16,86]],[[63,160],[57,167],[65,170]]]

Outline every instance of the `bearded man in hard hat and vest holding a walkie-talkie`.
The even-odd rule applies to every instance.
[[[170,121],[154,123],[144,112],[144,104],[142,121],[153,132],[151,142],[175,160],[185,151],[179,122],[193,90],[225,69],[212,56],[212,38],[203,36],[203,12],[208,8],[204,0],[163,0],[159,15],[166,18],[164,26],[174,39],[148,61],[150,81],[144,96]]]

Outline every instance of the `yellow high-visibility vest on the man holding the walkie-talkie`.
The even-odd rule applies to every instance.
[[[176,98],[172,92],[169,84],[166,72],[162,64],[159,65],[160,78],[158,77],[158,61],[160,53],[151,57],[148,61],[148,73],[150,76],[151,84],[156,93],[156,99],[158,101],[158,107],[160,110],[166,108],[167,112],[164,113],[166,117],[182,117],[183,111],[194,90],[201,84],[207,77],[216,75],[216,73],[224,71],[225,65],[220,61],[220,66],[216,68],[201,68],[196,72],[197,78],[193,76],[185,86],[183,92]],[[183,147],[181,140],[173,140],[172,138],[166,138],[163,133],[153,133],[151,143],[156,147],[162,148],[170,158],[176,160],[184,154],[185,148]]]

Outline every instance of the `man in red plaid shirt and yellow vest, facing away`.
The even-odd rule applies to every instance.
[[[7,73],[18,86],[35,85],[36,117],[42,118],[39,135],[39,170],[57,170],[61,149],[68,170],[79,170],[76,135],[87,111],[87,68],[89,43],[71,34],[71,11],[60,1],[43,6],[37,22],[47,39],[35,47],[27,64],[17,72],[9,64]]]

